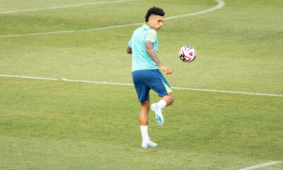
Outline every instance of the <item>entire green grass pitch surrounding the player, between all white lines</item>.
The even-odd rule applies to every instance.
[[[0,0],[0,11],[88,2]],[[283,94],[283,2],[225,2],[164,22],[158,56],[174,69],[166,79],[171,86]],[[176,16],[215,5],[135,1],[0,14],[0,35],[139,23],[150,6]],[[0,38],[0,74],[132,83],[125,47],[134,28]],[[194,62],[178,59],[183,45],[197,50]],[[142,149],[134,87],[0,77],[0,169],[236,170],[283,161],[282,97],[173,93],[164,125],[150,113],[158,147]],[[158,101],[153,92],[151,100]]]

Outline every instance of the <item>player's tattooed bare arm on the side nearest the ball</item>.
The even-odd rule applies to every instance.
[[[173,72],[173,69],[166,67],[162,64],[162,62],[158,59],[156,52],[154,51],[154,43],[151,41],[146,41],[146,53],[151,57],[151,60],[153,60],[159,68],[161,68],[166,74],[171,74]]]

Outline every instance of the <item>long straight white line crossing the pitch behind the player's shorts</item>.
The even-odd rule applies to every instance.
[[[7,75],[7,74],[0,74],[0,77],[16,77],[16,78],[23,78],[23,79],[45,79],[45,80],[56,80],[56,81],[58,80],[58,79],[54,79],[54,78],[26,77],[26,76]],[[110,84],[110,85],[121,85],[121,86],[134,86],[134,84],[114,83],[114,82],[105,82],[105,81],[88,81],[88,80],[74,80],[74,79],[67,79],[66,81],[91,83],[91,84]],[[190,90],[190,91],[210,91],[210,92],[226,93],[226,94],[248,94],[248,95],[258,95],[258,96],[283,97],[283,94],[261,94],[261,93],[250,93],[250,92],[244,92],[244,91],[222,91],[222,90],[213,90],[213,89],[194,89],[194,88],[183,88],[183,87],[172,87],[172,89]]]

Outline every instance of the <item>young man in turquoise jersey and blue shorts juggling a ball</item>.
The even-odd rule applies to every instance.
[[[162,8],[149,8],[145,16],[146,23],[134,30],[127,46],[127,53],[132,54],[132,78],[134,87],[141,103],[139,123],[142,137],[141,147],[143,148],[157,146],[156,143],[151,142],[147,131],[149,125],[149,108],[156,114],[157,123],[163,125],[164,120],[161,109],[174,102],[171,87],[159,69],[166,74],[171,74],[173,70],[170,67],[164,66],[156,55],[158,51],[156,31],[161,29],[164,15],[165,13]],[[156,91],[158,96],[161,96],[161,100],[150,106],[149,90],[151,89]]]

